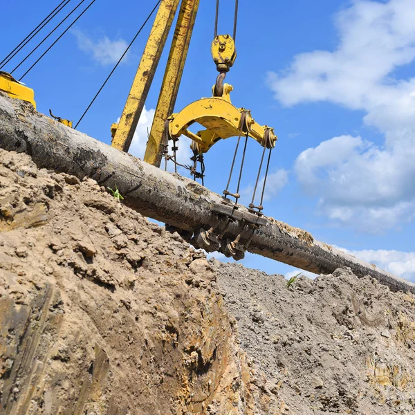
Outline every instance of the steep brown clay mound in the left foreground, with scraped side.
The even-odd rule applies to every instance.
[[[0,413],[278,413],[215,279],[95,181],[0,150]]]

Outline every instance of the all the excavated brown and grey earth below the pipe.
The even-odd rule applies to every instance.
[[[415,297],[207,261],[0,150],[0,414],[415,414]]]

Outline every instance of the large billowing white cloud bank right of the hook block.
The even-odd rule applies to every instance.
[[[384,134],[382,146],[341,136],[297,158],[299,183],[335,221],[374,231],[414,219],[415,78],[392,77],[414,61],[413,21],[413,0],[353,1],[335,19],[336,50],[299,54],[286,73],[268,75],[282,104],[329,101],[362,110],[364,122]]]

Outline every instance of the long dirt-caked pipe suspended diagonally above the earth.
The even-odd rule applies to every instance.
[[[219,194],[178,174],[170,174],[140,159],[65,127],[37,113],[23,101],[0,93],[0,148],[30,155],[38,167],[55,169],[78,178],[89,176],[101,185],[117,185],[124,203],[145,216],[183,230],[208,229],[217,225],[212,205],[221,204]],[[240,208],[241,212],[247,212]],[[372,264],[315,241],[304,230],[266,218],[266,224],[243,230],[238,221],[228,225],[224,237],[248,241],[248,250],[311,271],[333,273],[350,267],[358,277],[370,275],[393,291],[415,293],[415,284]]]

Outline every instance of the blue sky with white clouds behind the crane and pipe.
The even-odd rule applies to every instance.
[[[2,23],[7,42],[0,44],[1,58],[58,3],[4,2],[13,15],[19,12],[19,19]],[[65,10],[76,4],[71,3]],[[96,0],[24,78],[35,89],[37,109],[48,113],[50,108],[76,122],[155,3],[126,0],[118,10],[113,1]],[[210,96],[216,77],[210,56],[214,3],[201,0],[175,111]],[[232,32],[233,3],[221,1],[219,33]],[[226,78],[234,86],[232,102],[251,109],[257,122],[273,126],[279,136],[264,212],[413,280],[414,21],[413,0],[261,0],[255,6],[239,0],[238,56]],[[110,142],[109,128],[122,112],[150,27],[78,129]],[[28,51],[3,70],[11,71]],[[40,53],[14,75],[22,75]],[[136,156],[144,149],[167,54],[168,47],[131,146]],[[205,184],[215,192],[225,187],[235,141],[217,143],[205,157]],[[188,143],[183,140],[179,147],[185,160]],[[255,181],[260,152],[251,140],[243,174],[246,193]],[[295,273],[255,255],[243,263],[268,273]]]

